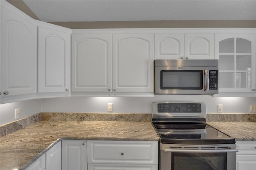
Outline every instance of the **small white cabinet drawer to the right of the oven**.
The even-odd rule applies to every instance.
[[[236,145],[238,147],[237,154],[256,154],[256,141],[238,141]]]

